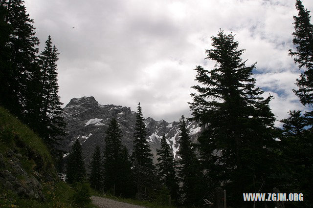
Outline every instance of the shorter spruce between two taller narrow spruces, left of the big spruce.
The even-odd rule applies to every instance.
[[[161,148],[156,149],[157,156],[157,172],[161,184],[166,186],[171,194],[172,199],[179,199],[179,186],[176,176],[176,163],[171,147],[166,142],[165,134],[161,138]]]

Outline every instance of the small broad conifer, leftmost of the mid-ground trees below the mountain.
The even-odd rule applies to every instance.
[[[78,139],[73,144],[72,151],[69,152],[67,157],[67,183],[82,182],[86,176],[86,169],[83,161],[82,147]]]

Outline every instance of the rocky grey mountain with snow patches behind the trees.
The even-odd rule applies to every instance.
[[[67,135],[62,138],[60,149],[68,153],[75,140],[78,139],[82,145],[85,164],[88,164],[96,146],[103,150],[105,131],[110,120],[115,117],[122,130],[122,144],[131,153],[135,115],[136,112],[132,111],[130,107],[113,104],[102,105],[94,97],[73,98],[63,109],[62,117],[67,123]],[[171,146],[174,157],[178,159],[179,122],[155,121],[148,117],[145,119],[145,125],[148,133],[147,141],[154,154],[154,162],[156,162],[156,149],[160,148],[160,138],[163,133],[165,133],[167,143]],[[196,122],[188,121],[187,125],[191,138],[195,140],[201,127]],[[64,157],[67,156],[67,153]]]

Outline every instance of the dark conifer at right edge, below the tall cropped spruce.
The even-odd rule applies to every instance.
[[[286,171],[286,192],[303,193],[306,198],[305,206],[295,204],[299,207],[310,207],[313,203],[313,146],[312,132],[307,128],[307,119],[301,115],[300,110],[289,112],[290,117],[281,120],[283,123],[282,158]]]

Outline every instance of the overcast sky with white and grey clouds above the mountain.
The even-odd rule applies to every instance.
[[[277,119],[304,109],[291,91],[299,70],[288,56],[295,0],[25,0],[40,50],[56,44],[59,94],[94,96],[100,104],[138,102],[144,117],[167,122],[191,116],[190,86],[219,28],[233,32],[247,64],[258,62],[257,86],[274,96]],[[313,11],[313,0],[303,0]],[[312,14],[312,12],[311,12]],[[278,122],[276,123],[277,125]]]

